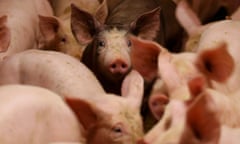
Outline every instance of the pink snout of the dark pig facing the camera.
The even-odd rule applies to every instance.
[[[121,59],[117,59],[109,65],[109,71],[113,74],[125,74],[129,71],[129,68],[129,64]]]

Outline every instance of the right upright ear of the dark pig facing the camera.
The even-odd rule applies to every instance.
[[[141,15],[131,23],[131,32],[143,39],[153,40],[156,38],[160,28],[160,8]]]

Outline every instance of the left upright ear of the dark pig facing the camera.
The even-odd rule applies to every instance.
[[[87,45],[93,40],[100,23],[88,12],[85,12],[74,4],[71,4],[71,28],[76,40]]]

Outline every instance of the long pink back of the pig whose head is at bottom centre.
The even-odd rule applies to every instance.
[[[98,80],[77,59],[60,52],[28,50],[4,59],[0,84],[21,83],[51,89],[61,96],[103,94]]]

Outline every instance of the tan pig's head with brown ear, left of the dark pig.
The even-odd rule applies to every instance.
[[[81,59],[84,45],[79,46],[73,37],[70,20],[39,15],[39,27],[43,36],[40,49],[60,51]]]

